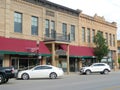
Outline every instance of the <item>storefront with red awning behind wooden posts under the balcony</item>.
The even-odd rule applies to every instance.
[[[94,49],[91,47],[74,46],[54,41],[47,42],[47,46],[52,52],[52,65],[63,68],[68,74],[79,71],[82,65],[95,62]]]

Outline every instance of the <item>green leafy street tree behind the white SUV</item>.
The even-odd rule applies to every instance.
[[[106,43],[106,39],[103,37],[101,32],[98,32],[95,36],[94,43],[96,45],[94,49],[94,54],[97,56],[98,62],[101,62],[101,59],[104,56],[108,55],[109,49]]]

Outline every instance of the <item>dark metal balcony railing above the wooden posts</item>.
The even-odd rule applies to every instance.
[[[61,41],[61,42],[70,42],[70,35],[64,35],[61,33],[50,33],[45,34],[45,41]]]

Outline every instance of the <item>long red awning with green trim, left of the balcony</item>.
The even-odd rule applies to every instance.
[[[31,53],[50,55],[50,51],[42,41],[37,47],[36,41],[33,40],[0,37],[0,54],[28,55]]]

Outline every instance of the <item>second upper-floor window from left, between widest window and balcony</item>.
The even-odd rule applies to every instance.
[[[38,35],[38,18],[32,16],[31,34]]]

